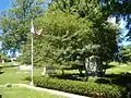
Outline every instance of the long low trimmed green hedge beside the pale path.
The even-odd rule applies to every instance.
[[[111,86],[105,84],[76,82],[50,77],[34,77],[34,84],[38,87],[57,89],[95,98],[122,98],[127,93],[124,88],[116,85]]]

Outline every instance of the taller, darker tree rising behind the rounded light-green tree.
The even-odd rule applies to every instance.
[[[111,15],[110,9],[107,9],[108,5],[100,5],[99,3],[103,4],[104,1],[59,0],[52,2],[49,11],[61,11],[78,15],[78,19],[82,17],[93,22],[94,37],[92,38],[92,45],[100,45],[100,57],[103,57],[104,61],[106,59],[106,61],[110,61],[115,57],[115,52],[118,52],[117,42],[120,30],[118,30],[119,28],[117,28],[117,26],[112,26],[107,22],[108,17]]]

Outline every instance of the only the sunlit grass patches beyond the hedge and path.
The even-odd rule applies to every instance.
[[[29,84],[29,82],[25,81],[25,78],[31,76],[31,72],[20,71],[17,69],[17,66],[4,68],[3,71],[4,71],[4,73],[0,74],[0,85],[4,85],[7,83]],[[34,76],[40,76],[41,72],[43,72],[43,68],[38,68],[38,69],[35,68]],[[61,70],[58,70],[57,72],[58,72],[58,74],[61,74]],[[106,70],[106,75],[121,74],[123,72],[131,72],[131,65],[124,64],[124,63],[119,64],[118,62],[111,62],[111,63],[109,63],[109,68]],[[83,73],[85,73],[85,72],[83,71]],[[79,71],[78,70],[64,70],[64,74],[79,74]],[[88,82],[90,82],[90,78],[88,78]]]

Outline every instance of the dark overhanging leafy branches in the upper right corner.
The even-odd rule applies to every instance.
[[[119,23],[121,19],[127,22],[127,28],[129,33],[127,34],[127,39],[131,40],[131,0],[103,0],[104,8],[106,12],[110,15],[116,16],[116,23]]]

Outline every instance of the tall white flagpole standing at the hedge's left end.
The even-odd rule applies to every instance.
[[[34,30],[34,25],[33,25],[33,20],[32,20],[32,28],[31,28],[31,33],[32,33],[32,35],[31,35],[31,37],[32,37],[32,71],[31,71],[31,78],[32,78],[32,81],[31,81],[31,85],[33,86],[34,85],[34,82],[33,82],[33,33],[35,33],[35,30]]]

